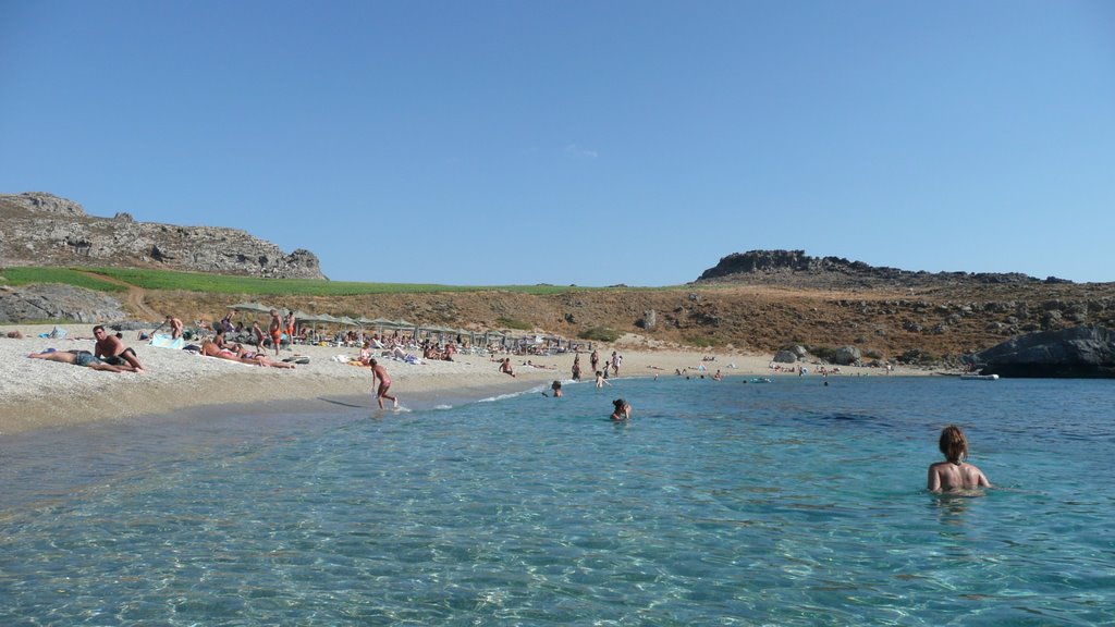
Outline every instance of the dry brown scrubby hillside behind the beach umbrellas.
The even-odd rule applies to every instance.
[[[237,299],[147,292],[145,300],[148,307],[183,319],[213,320]],[[977,351],[1032,330],[1080,324],[1115,327],[1115,283],[843,290],[736,283],[556,296],[486,291],[275,298],[269,303],[477,330],[506,328],[505,320],[516,320],[537,332],[570,338],[608,327],[641,336],[651,346],[662,343],[708,350],[770,353],[793,344],[813,349],[855,345],[869,358],[906,361]]]

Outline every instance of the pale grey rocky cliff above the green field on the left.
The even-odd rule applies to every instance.
[[[114,266],[269,278],[324,279],[317,255],[287,254],[239,229],[175,226],[87,215],[80,204],[29,192],[0,194],[0,267]]]

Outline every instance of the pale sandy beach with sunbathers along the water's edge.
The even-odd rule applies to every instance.
[[[0,436],[42,427],[166,414],[187,407],[236,404],[237,411],[251,412],[253,408],[265,411],[265,404],[282,403],[287,409],[322,411],[328,407],[326,402],[336,402],[331,401],[336,398],[345,398],[357,407],[375,407],[369,368],[338,360],[356,357],[358,348],[298,345],[293,350],[281,350],[279,358],[299,355],[309,357],[310,363],[294,369],[280,369],[153,347],[137,340],[136,331],[126,331],[124,343],[135,349],[146,372],[117,374],[28,358],[28,354],[47,348],[90,351],[94,348],[91,325],[67,325],[65,339],[38,337],[50,329],[50,326],[0,326]],[[25,337],[4,337],[11,330],[19,330]],[[701,373],[697,368],[702,364],[708,369],[706,376],[717,369],[726,376],[778,376],[768,367],[770,355],[717,353],[715,360],[702,361],[704,357],[714,354],[605,345],[597,349],[601,360],[611,356],[612,350],[623,356],[621,377],[676,376],[679,369],[699,376]],[[486,355],[458,354],[454,361],[417,365],[379,359],[392,379],[391,393],[399,397],[404,407],[408,398],[420,397],[429,403],[439,397],[457,402],[477,399],[493,393],[547,387],[552,380],[569,380],[572,376],[572,354],[506,356],[514,366],[514,378],[500,373],[498,364]],[[537,367],[526,366],[527,360]],[[581,368],[582,378],[591,379],[589,353],[581,354]],[[872,368],[842,369],[844,375],[880,374]]]

